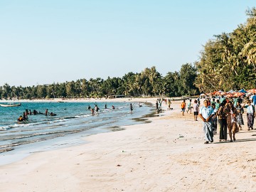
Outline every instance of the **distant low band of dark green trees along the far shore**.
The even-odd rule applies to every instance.
[[[90,78],[71,82],[37,85],[32,87],[0,86],[0,97],[4,99],[50,99],[195,95],[199,90],[193,85],[196,79],[195,66],[186,63],[179,72],[167,73],[163,77],[156,67],[146,68],[141,73],[127,73],[122,78]]]

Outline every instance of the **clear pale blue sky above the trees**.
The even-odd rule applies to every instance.
[[[255,0],[0,0],[0,86],[122,78],[194,63]]]

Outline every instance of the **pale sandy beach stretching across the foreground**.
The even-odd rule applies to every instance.
[[[245,116],[236,142],[217,134],[203,144],[201,119],[182,117],[180,103],[164,105],[150,123],[1,166],[0,191],[256,191],[256,131],[247,131]]]

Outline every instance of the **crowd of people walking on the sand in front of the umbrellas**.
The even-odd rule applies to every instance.
[[[200,100],[199,100],[200,102]],[[244,102],[244,105],[242,105]],[[253,105],[252,105],[253,103]],[[254,118],[255,118],[255,105],[256,105],[256,94],[255,97],[245,97],[242,100],[238,98],[225,98],[221,96],[215,102],[215,98],[210,98],[203,101],[203,107],[199,107],[198,100],[194,100],[193,112],[194,120],[197,121],[197,117],[201,117],[203,120],[203,132],[205,133],[205,144],[213,142],[213,135],[217,134],[217,127],[219,124],[220,137],[219,142],[227,141],[227,135],[230,137],[230,142],[235,141],[235,133],[242,129],[244,121],[242,114],[245,112],[247,117],[247,129],[253,129]],[[191,112],[192,105],[191,100],[188,102],[187,112]],[[186,111],[186,101],[183,100],[181,103],[182,115]]]

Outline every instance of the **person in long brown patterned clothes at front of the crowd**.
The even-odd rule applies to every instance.
[[[228,124],[228,134],[230,137],[230,142],[235,141],[235,133],[239,131],[237,122],[238,111],[234,107],[232,102],[225,104],[224,112],[227,114],[227,124]],[[233,139],[232,139],[233,134]]]

